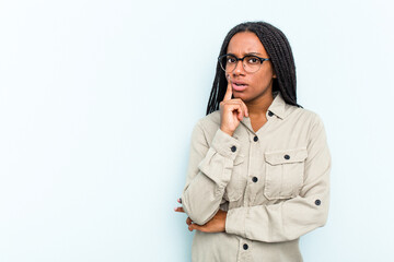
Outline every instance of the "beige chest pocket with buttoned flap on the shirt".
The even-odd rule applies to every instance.
[[[303,184],[306,148],[266,152],[264,195],[268,200],[290,199],[299,194]]]

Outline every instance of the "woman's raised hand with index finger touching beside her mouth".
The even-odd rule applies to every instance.
[[[248,111],[241,98],[231,99],[232,86],[230,76],[227,75],[227,80],[228,88],[223,100],[219,104],[220,129],[232,136],[243,117],[248,117]]]

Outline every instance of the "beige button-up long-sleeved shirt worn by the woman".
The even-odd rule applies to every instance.
[[[224,233],[195,230],[193,262],[303,261],[300,236],[324,226],[332,158],[317,114],[274,93],[267,122],[243,118],[233,135],[220,111],[192,133],[182,205],[199,225],[228,211]]]

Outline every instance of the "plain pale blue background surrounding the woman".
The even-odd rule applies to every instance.
[[[0,261],[189,261],[175,213],[227,32],[264,20],[333,155],[306,262],[391,261],[391,1],[0,1]]]

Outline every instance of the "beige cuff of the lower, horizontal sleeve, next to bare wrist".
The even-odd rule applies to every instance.
[[[225,233],[235,234],[246,238],[245,219],[247,207],[237,207],[229,210],[225,217]]]

